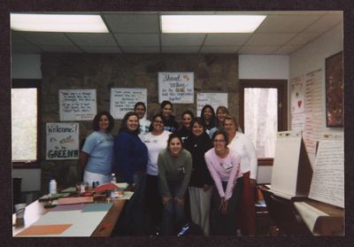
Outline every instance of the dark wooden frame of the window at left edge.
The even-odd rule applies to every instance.
[[[34,161],[12,160],[12,168],[39,168],[41,158],[42,80],[12,79],[12,89],[37,89],[37,156]]]

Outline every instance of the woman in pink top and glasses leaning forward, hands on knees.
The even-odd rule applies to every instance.
[[[227,148],[225,130],[212,135],[214,148],[205,153],[215,186],[211,203],[211,235],[236,235],[236,209],[242,194],[240,157]]]

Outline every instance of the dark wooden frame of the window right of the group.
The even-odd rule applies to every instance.
[[[239,125],[244,129],[244,89],[278,89],[278,131],[288,129],[288,80],[240,80]],[[258,166],[273,166],[273,158],[258,158]]]

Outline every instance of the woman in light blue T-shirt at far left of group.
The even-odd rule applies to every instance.
[[[111,130],[114,120],[109,112],[99,112],[93,120],[93,129],[81,150],[81,167],[84,170],[83,181],[100,184],[111,181],[113,136]]]

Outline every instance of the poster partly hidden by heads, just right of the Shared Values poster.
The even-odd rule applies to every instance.
[[[205,104],[212,105],[214,111],[220,106],[227,107],[227,93],[198,93],[196,94],[196,115],[200,116]]]

